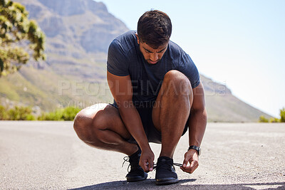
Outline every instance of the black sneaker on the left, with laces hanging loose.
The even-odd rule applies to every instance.
[[[130,162],[130,165],[128,167],[128,169],[130,168],[130,171],[125,176],[128,182],[143,181],[147,179],[147,173],[145,173],[145,171],[143,171],[142,167],[139,165],[140,154],[141,150],[139,148],[137,152],[130,155],[129,157],[124,157],[125,162]]]

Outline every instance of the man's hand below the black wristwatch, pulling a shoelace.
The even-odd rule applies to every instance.
[[[187,164],[190,164],[189,167],[187,167]],[[195,149],[190,149],[184,154],[184,161],[183,161],[183,166],[180,167],[183,171],[192,174],[195,169],[199,166],[199,157],[197,150]]]

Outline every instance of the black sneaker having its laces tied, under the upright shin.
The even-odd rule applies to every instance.
[[[155,184],[168,185],[175,184],[179,180],[173,167],[173,159],[169,157],[159,157],[157,159]]]

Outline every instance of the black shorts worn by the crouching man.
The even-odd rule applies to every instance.
[[[113,107],[118,109],[118,105],[116,102],[113,102],[113,104],[110,104]],[[140,115],[140,119],[142,120],[142,126],[145,130],[145,134],[147,135],[148,142],[154,142],[161,144],[161,132],[159,132],[155,125],[152,122],[152,107],[157,106],[156,102],[140,102],[140,103],[134,103],[135,108],[138,110],[138,113]],[[190,117],[188,118],[185,128],[183,130],[182,136],[187,132],[188,130],[188,122]],[[133,137],[131,137],[128,142],[138,144]]]

